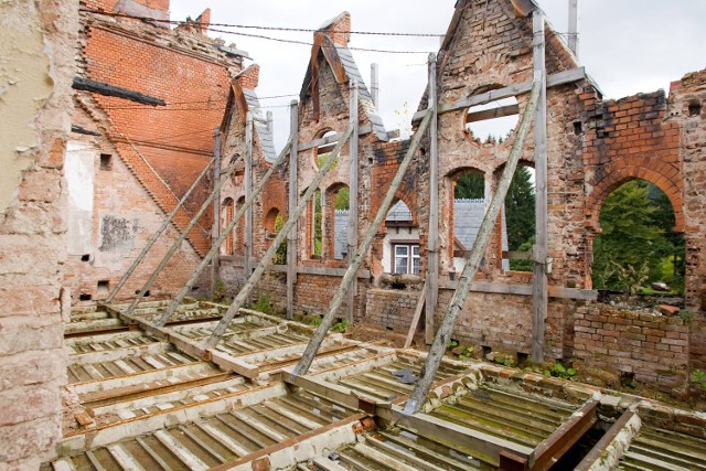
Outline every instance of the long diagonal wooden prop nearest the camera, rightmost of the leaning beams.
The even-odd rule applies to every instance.
[[[530,131],[530,124],[532,122],[532,118],[537,106],[537,99],[539,98],[541,86],[542,82],[539,79],[536,79],[534,86],[532,87],[530,100],[527,101],[525,110],[522,115],[522,121],[520,124],[520,127],[517,128],[517,132],[515,133],[515,141],[512,144],[510,157],[507,158],[507,162],[505,163],[505,168],[503,169],[500,182],[498,183],[495,194],[493,195],[490,205],[488,206],[488,211],[483,216],[483,222],[481,223],[481,227],[478,231],[478,236],[475,237],[475,242],[473,243],[473,248],[471,249],[468,260],[466,261],[466,266],[463,267],[463,271],[461,272],[461,277],[459,278],[458,287],[453,292],[453,298],[451,298],[449,310],[443,317],[441,325],[439,325],[439,329],[437,330],[437,334],[434,339],[434,344],[431,345],[431,349],[429,349],[427,360],[425,360],[424,362],[424,367],[421,368],[421,377],[419,378],[417,386],[415,386],[415,389],[411,392],[409,400],[407,400],[407,404],[405,405],[404,414],[406,415],[418,413],[424,405],[427,394],[429,394],[429,389],[431,388],[431,384],[434,383],[434,377],[439,370],[441,358],[443,357],[443,353],[446,352],[447,342],[451,339],[456,319],[458,318],[461,309],[463,309],[463,304],[466,303],[466,298],[468,297],[468,293],[470,291],[471,283],[473,282],[473,278],[475,278],[478,267],[480,266],[481,259],[483,258],[485,246],[488,245],[488,240],[490,239],[493,228],[495,227],[498,215],[500,214],[500,210],[502,208],[505,201],[505,195],[507,194],[507,189],[510,188],[510,183],[512,182],[512,176],[515,173],[515,169],[517,168],[517,161],[520,160],[520,156],[522,154],[522,147],[524,144],[525,138],[527,137],[527,132]]]

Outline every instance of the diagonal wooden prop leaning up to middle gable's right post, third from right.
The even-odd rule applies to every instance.
[[[352,129],[349,128],[344,132],[343,137],[341,138],[339,143],[335,146],[335,148],[331,152],[331,156],[329,156],[329,159],[327,160],[327,162],[323,164],[321,170],[319,170],[317,175],[313,178],[313,180],[311,181],[311,184],[304,192],[304,195],[301,197],[301,201],[299,201],[297,208],[292,214],[289,214],[289,216],[287,217],[287,223],[285,223],[285,226],[282,227],[282,229],[279,232],[279,234],[277,234],[277,237],[275,237],[275,240],[269,246],[269,248],[260,259],[259,264],[257,264],[255,271],[253,271],[253,275],[250,275],[250,277],[248,278],[243,289],[240,289],[240,292],[238,292],[237,296],[233,299],[233,303],[228,307],[228,310],[225,312],[225,314],[221,319],[221,322],[218,322],[218,325],[216,325],[216,328],[214,329],[213,334],[211,334],[211,336],[204,342],[204,345],[203,345],[204,349],[212,349],[216,343],[218,343],[218,341],[225,333],[226,329],[231,324],[231,321],[233,320],[233,318],[235,318],[235,314],[237,314],[238,310],[240,309],[240,306],[243,306],[243,303],[248,298],[248,296],[250,296],[250,292],[255,288],[255,285],[257,285],[257,281],[259,281],[260,277],[265,272],[265,268],[270,263],[272,256],[277,251],[277,247],[279,247],[279,244],[281,244],[282,240],[285,240],[285,237],[287,237],[291,228],[295,226],[301,213],[303,213],[303,211],[307,208],[307,204],[309,203],[309,200],[311,200],[311,196],[313,196],[314,192],[319,188],[321,180],[323,180],[323,178],[329,172],[331,167],[333,167],[333,162],[338,159],[339,153],[341,153],[341,149],[343,149],[343,144],[345,144],[345,142],[351,137],[351,131]]]

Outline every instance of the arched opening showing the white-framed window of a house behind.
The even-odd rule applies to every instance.
[[[399,200],[385,217],[387,234],[383,240],[383,270],[394,275],[419,274],[419,228],[409,206]]]

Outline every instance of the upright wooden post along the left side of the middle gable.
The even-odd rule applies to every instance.
[[[293,99],[289,105],[289,135],[291,149],[289,151],[289,206],[288,214],[295,214],[299,199],[299,165],[297,142],[299,140],[299,103]],[[289,217],[288,217],[289,218]],[[295,314],[295,285],[297,285],[297,259],[299,258],[299,225],[293,223],[287,236],[287,319]]]

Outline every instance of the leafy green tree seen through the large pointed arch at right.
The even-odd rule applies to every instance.
[[[593,242],[597,288],[621,288],[616,266],[639,270],[646,264],[654,281],[661,260],[673,253],[666,231],[655,224],[659,206],[648,196],[649,190],[646,182],[633,180],[606,199],[599,216],[602,234]]]

